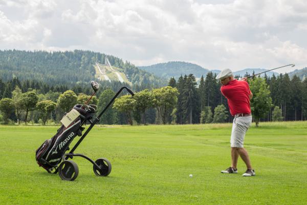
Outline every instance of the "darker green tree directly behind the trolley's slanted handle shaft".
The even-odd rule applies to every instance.
[[[99,96],[99,103],[97,105],[98,113],[100,113],[106,105],[111,101],[111,99],[114,97],[115,93],[111,89],[104,90],[100,96]],[[102,115],[102,118],[100,119],[101,124],[106,125],[113,125],[116,123],[117,120],[117,113],[116,111],[110,106]]]

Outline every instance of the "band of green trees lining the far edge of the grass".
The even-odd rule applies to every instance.
[[[139,87],[139,90],[135,90],[134,97],[120,96],[103,115],[101,123],[133,125],[231,122],[227,100],[221,94],[221,84],[215,80],[215,76],[216,74],[209,72],[201,77],[199,85],[195,76],[190,74],[178,79],[171,78],[166,87]],[[250,78],[249,85],[254,94],[251,107],[257,125],[260,121],[306,120],[307,79],[301,81],[297,76],[290,79],[288,74],[280,74]],[[121,86],[127,85],[102,81],[101,89],[92,104],[96,104],[98,111],[101,111]],[[72,88],[59,85],[49,87],[35,80],[0,79],[0,120],[5,123],[27,120],[42,124],[48,120],[58,123],[64,112],[69,111],[74,104],[84,103],[91,92],[89,84],[75,85]],[[68,103],[63,103],[65,100]],[[26,104],[27,101],[28,109],[24,105],[18,106],[18,103]]]

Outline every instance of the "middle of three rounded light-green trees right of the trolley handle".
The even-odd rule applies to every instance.
[[[145,113],[148,108],[152,107],[152,103],[153,103],[152,92],[150,92],[147,89],[142,90],[134,95],[134,99],[136,100],[135,105],[134,105],[135,106],[134,111],[139,112],[139,114],[143,115],[143,122],[144,122],[144,125],[146,125],[146,114]]]

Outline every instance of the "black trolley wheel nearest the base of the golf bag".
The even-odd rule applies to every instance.
[[[63,180],[73,181],[79,174],[79,168],[76,162],[72,160],[65,160],[60,163],[58,168],[59,176]]]

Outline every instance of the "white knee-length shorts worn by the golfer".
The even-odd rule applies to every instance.
[[[230,137],[230,147],[243,148],[245,133],[252,124],[252,116],[234,117]]]

